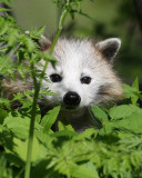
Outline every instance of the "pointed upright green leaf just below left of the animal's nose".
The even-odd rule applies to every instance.
[[[43,132],[49,132],[52,125],[55,122],[57,117],[60,111],[60,106],[54,107],[52,110],[50,110],[41,120],[41,126],[43,127]]]

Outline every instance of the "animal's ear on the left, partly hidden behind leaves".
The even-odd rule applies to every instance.
[[[30,31],[26,31],[26,34],[29,36]],[[52,46],[52,42],[45,36],[41,36],[40,40],[34,38],[32,38],[32,40],[34,40],[39,44],[41,51],[43,52],[49,51]]]

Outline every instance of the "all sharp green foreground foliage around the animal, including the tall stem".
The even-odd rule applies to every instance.
[[[2,2],[8,3],[6,0]],[[28,178],[30,170],[34,178],[141,178],[142,109],[138,100],[142,100],[142,93],[138,79],[132,87],[124,86],[125,99],[121,106],[91,108],[102,122],[100,130],[91,128],[79,135],[70,125],[59,122],[59,131],[53,132],[51,127],[60,106],[40,120],[39,93],[53,95],[48,89],[40,91],[44,71],[49,62],[54,62],[52,51],[67,13],[72,16],[80,11],[81,4],[81,0],[54,2],[63,11],[48,55],[42,53],[32,40],[39,40],[44,28],[31,30],[27,36],[11,17],[0,17],[0,72],[9,73],[14,80],[13,71],[17,69],[27,80],[27,71],[34,85],[34,90],[17,93],[11,100],[21,102],[19,110],[11,109],[11,101],[0,99],[0,178]],[[11,62],[13,53],[18,57],[16,63]],[[36,70],[34,65],[41,58],[45,59],[43,70]],[[23,59],[28,60],[29,66],[23,66]]]

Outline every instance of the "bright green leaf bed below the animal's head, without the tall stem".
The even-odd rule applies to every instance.
[[[60,122],[59,131],[53,132],[59,107],[49,111],[40,125],[36,121],[31,177],[141,177],[142,109],[130,102],[110,109],[94,106],[92,110],[103,125],[100,130],[77,134]],[[29,118],[20,113],[4,116],[0,127],[3,177],[8,172],[22,177],[29,125]]]

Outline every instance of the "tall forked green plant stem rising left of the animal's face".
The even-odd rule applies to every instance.
[[[60,22],[59,22],[58,32],[57,32],[57,36],[53,40],[52,47],[49,51],[50,56],[53,53],[53,49],[54,49],[55,43],[57,43],[57,41],[59,39],[59,36],[61,33],[67,13],[68,13],[68,10],[65,8],[63,8],[63,11],[62,11],[62,14],[61,14],[61,18],[60,18]],[[32,142],[33,142],[33,135],[34,135],[34,121],[36,121],[37,103],[38,103],[40,87],[41,87],[41,83],[42,83],[42,80],[43,80],[44,72],[48,68],[48,63],[49,63],[49,61],[47,60],[38,83],[37,83],[37,79],[36,79],[34,69],[31,68],[32,69],[33,83],[34,83],[34,96],[33,96],[33,102],[32,102],[32,109],[31,109],[31,121],[30,121],[30,130],[29,130],[29,141],[28,141],[28,152],[27,152],[24,178],[30,178]]]

